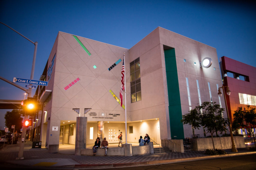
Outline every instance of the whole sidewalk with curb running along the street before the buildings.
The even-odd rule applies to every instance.
[[[134,146],[135,143],[132,145]],[[87,148],[92,148],[92,146],[87,145]],[[1,164],[26,166],[27,168],[107,168],[171,163],[256,153],[255,151],[248,151],[246,148],[242,148],[238,149],[237,153],[230,152],[230,149],[228,149],[225,150],[228,154],[214,156],[204,155],[204,151],[187,151],[185,153],[170,152],[136,156],[83,156],[74,155],[74,145],[60,145],[58,153],[48,153],[48,150],[44,147],[42,149],[31,149],[31,147],[32,142],[26,141],[24,146],[24,160],[16,160],[19,152],[19,145],[7,145],[4,150],[0,151]],[[118,147],[118,144],[110,144],[109,147]],[[159,146],[154,145],[154,147],[157,148]]]

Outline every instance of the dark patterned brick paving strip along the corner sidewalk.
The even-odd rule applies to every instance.
[[[5,151],[0,151],[0,163],[8,161],[8,163],[17,162],[16,158],[18,157],[18,146],[9,146]],[[65,163],[65,159],[72,159],[77,162],[74,166],[87,166],[87,165],[120,165],[120,164],[141,164],[141,163],[150,163],[151,161],[182,161],[181,159],[191,158],[191,159],[203,159],[207,155],[204,155],[204,151],[185,151],[184,153],[156,153],[149,155],[136,155],[136,156],[86,156],[86,155],[74,155],[70,153],[48,153],[47,149],[31,150],[31,146],[27,145],[27,149],[24,150],[24,160],[36,161],[42,159],[64,159],[62,162]],[[226,150],[226,152],[229,152]],[[238,149],[238,153],[248,153],[250,151],[244,149]],[[230,153],[230,152],[229,152]],[[256,153],[256,152],[254,152]],[[233,153],[232,153],[233,154]],[[209,155],[208,155],[209,156]],[[42,161],[43,162],[43,161]]]

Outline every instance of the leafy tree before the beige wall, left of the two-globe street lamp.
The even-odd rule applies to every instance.
[[[189,113],[182,116],[181,122],[189,124],[193,128],[205,127],[207,133],[211,134],[213,149],[215,150],[213,134],[219,131],[221,134],[226,129],[229,120],[223,117],[223,108],[219,104],[203,102],[196,106],[195,109],[190,110]]]

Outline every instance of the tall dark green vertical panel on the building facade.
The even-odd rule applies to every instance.
[[[184,139],[175,49],[164,50],[172,139]],[[176,137],[175,137],[176,136]]]

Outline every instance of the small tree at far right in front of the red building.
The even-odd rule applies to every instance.
[[[236,111],[234,111],[234,120],[232,122],[232,127],[234,130],[240,127],[249,129],[253,136],[254,147],[256,148],[256,142],[254,137],[254,132],[256,128],[255,109],[256,108],[250,107],[250,105],[247,105],[246,108],[239,107]]]

